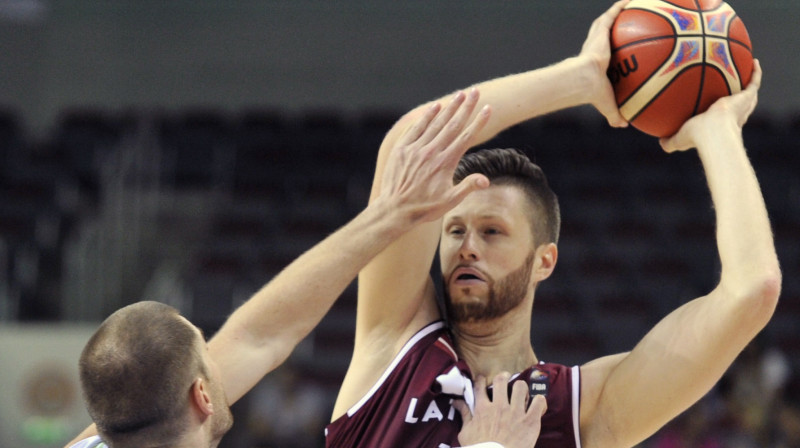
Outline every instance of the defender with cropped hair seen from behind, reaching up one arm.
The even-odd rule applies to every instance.
[[[106,319],[80,358],[95,425],[73,447],[217,446],[233,423],[229,405],[289,356],[372,257],[488,186],[482,175],[452,183],[458,160],[490,116],[483,107],[472,117],[474,106],[458,103],[459,113],[447,116],[438,104],[428,107],[396,141],[369,206],[237,309],[208,344],[177,310],[157,302]],[[430,126],[434,119],[448,126]],[[520,433],[538,434],[543,400],[526,409],[524,390],[511,399],[478,398],[482,412],[465,426],[465,443],[513,443]]]

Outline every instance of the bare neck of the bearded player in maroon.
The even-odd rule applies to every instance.
[[[473,376],[483,375],[488,381],[500,372],[521,372],[538,362],[530,339],[530,313],[512,311],[491,321],[457,324],[453,334]]]

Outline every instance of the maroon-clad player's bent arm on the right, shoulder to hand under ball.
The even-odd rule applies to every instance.
[[[710,294],[669,314],[630,354],[582,367],[585,447],[629,447],[653,434],[711,389],[775,310],[780,267],[741,132],[760,82],[756,64],[745,91],[661,141],[667,152],[697,148],[716,210],[722,272]]]

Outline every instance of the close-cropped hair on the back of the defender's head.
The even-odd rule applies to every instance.
[[[208,377],[196,330],[178,310],[138,302],[109,316],[81,353],[79,370],[89,415],[108,442],[165,443],[186,428],[189,393]]]

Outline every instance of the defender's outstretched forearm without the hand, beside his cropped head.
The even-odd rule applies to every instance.
[[[209,342],[231,403],[276,368],[375,255],[409,222],[383,202],[309,249],[262,287]]]

